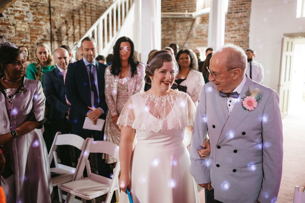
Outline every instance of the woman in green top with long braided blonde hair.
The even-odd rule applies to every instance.
[[[51,51],[47,44],[38,42],[34,49],[37,62],[27,67],[27,78],[39,80],[43,87],[43,74],[55,68],[55,65],[53,65]]]

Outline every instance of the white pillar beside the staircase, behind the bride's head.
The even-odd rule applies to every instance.
[[[142,0],[141,61],[146,64],[152,49],[161,49],[161,0]]]

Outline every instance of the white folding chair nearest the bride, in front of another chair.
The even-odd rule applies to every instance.
[[[105,203],[110,203],[113,193],[115,191],[116,201],[120,198],[119,189],[119,146],[107,141],[93,141],[93,138],[88,141],[87,147],[84,150],[84,159],[77,171],[76,179],[74,181],[59,185],[59,189],[70,194],[67,195],[65,202],[73,202],[74,197],[78,196],[85,200],[90,200],[95,203],[95,198],[107,194]],[[106,178],[95,173],[91,173],[90,163],[88,161],[89,153],[106,153],[116,158],[117,165],[113,169],[113,177]],[[86,166],[88,177],[82,178],[84,167]]]

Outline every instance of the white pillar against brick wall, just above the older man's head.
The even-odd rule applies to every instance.
[[[208,47],[214,50],[224,45],[225,5],[225,0],[211,1]]]

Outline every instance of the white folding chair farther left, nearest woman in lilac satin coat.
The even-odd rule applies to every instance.
[[[84,140],[84,138],[74,134],[61,135],[61,132],[56,133],[54,141],[52,143],[52,147],[49,152],[49,162],[51,163],[52,159],[54,159],[54,163],[55,163],[55,167],[50,168],[53,187],[59,184],[69,182],[71,180],[75,180],[74,174],[76,175],[75,172],[77,170],[77,167],[74,168],[58,163],[58,158],[56,153],[57,145],[72,145],[74,147],[77,147],[82,151],[81,152],[81,157],[82,157],[83,149],[85,148],[86,142],[88,140],[87,139]],[[80,161],[80,159],[78,161]],[[62,202],[62,199],[65,199],[66,197],[66,195],[62,194],[62,191],[59,188],[58,188],[58,196],[59,196],[59,202]]]

